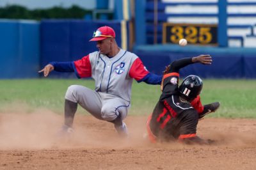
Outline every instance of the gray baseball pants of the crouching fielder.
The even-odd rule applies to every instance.
[[[78,103],[95,118],[106,121],[115,120],[119,114],[124,120],[129,107],[129,102],[120,97],[79,85],[69,86],[65,99]]]

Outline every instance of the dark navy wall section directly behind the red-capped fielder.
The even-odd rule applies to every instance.
[[[41,67],[51,61],[74,61],[98,50],[89,42],[98,27],[110,26],[116,32],[116,42],[121,44],[121,26],[116,21],[42,20]],[[75,77],[74,73],[52,72],[50,77]]]

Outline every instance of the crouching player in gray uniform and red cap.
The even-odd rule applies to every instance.
[[[148,72],[140,58],[120,49],[115,31],[108,26],[99,27],[90,41],[97,42],[99,51],[70,62],[51,62],[39,72],[47,77],[52,70],[75,72],[78,78],[92,77],[95,89],[72,85],[65,95],[65,124],[62,132],[72,132],[77,104],[95,118],[113,123],[118,134],[127,136],[124,118],[131,104],[133,79],[147,84],[161,84],[161,75]]]

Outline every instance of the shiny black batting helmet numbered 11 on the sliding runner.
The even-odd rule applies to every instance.
[[[186,100],[191,101],[200,94],[203,88],[203,81],[196,75],[189,75],[180,84],[179,90]]]

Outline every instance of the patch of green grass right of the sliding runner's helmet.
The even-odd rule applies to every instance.
[[[202,100],[221,102],[217,117],[256,118],[256,80],[208,80],[204,81]]]

